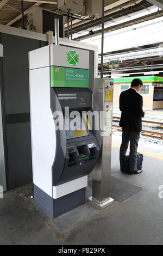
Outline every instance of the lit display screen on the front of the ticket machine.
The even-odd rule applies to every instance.
[[[66,139],[87,136],[88,132],[84,118],[77,116],[76,118],[65,117]]]

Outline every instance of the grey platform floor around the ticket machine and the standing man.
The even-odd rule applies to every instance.
[[[30,198],[32,184],[5,192],[0,199],[0,245],[162,245],[163,145],[140,139],[143,172],[127,175],[118,162],[120,143],[120,133],[114,133],[110,184],[114,204],[98,210],[86,202],[52,220]]]

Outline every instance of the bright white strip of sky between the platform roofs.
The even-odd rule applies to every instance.
[[[162,26],[163,16],[105,34],[104,53],[124,51],[124,49],[153,45],[155,43],[162,44]],[[97,45],[98,52],[101,53],[101,38],[96,39],[95,36],[91,40],[85,39],[81,41]]]

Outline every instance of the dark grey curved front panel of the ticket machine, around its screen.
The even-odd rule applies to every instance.
[[[64,96],[65,95],[65,96]],[[70,99],[67,95],[73,96]],[[83,111],[92,109],[92,93],[88,88],[51,88],[52,112],[58,110],[65,115],[65,107],[70,112],[78,111],[83,118]],[[100,147],[96,138],[95,127],[87,130],[83,136],[66,138],[66,131],[57,131],[57,153],[53,164],[53,185],[58,186],[65,182],[88,175],[98,160]],[[80,129],[79,129],[80,130]]]

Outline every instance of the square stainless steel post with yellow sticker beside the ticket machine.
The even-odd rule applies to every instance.
[[[112,78],[95,78],[94,96],[100,113],[100,129],[96,131],[101,153],[92,172],[92,197],[89,202],[98,209],[104,209],[114,202],[110,197],[111,176],[111,133],[112,133]],[[95,106],[93,108],[96,108]],[[101,137],[101,140],[100,140]]]

